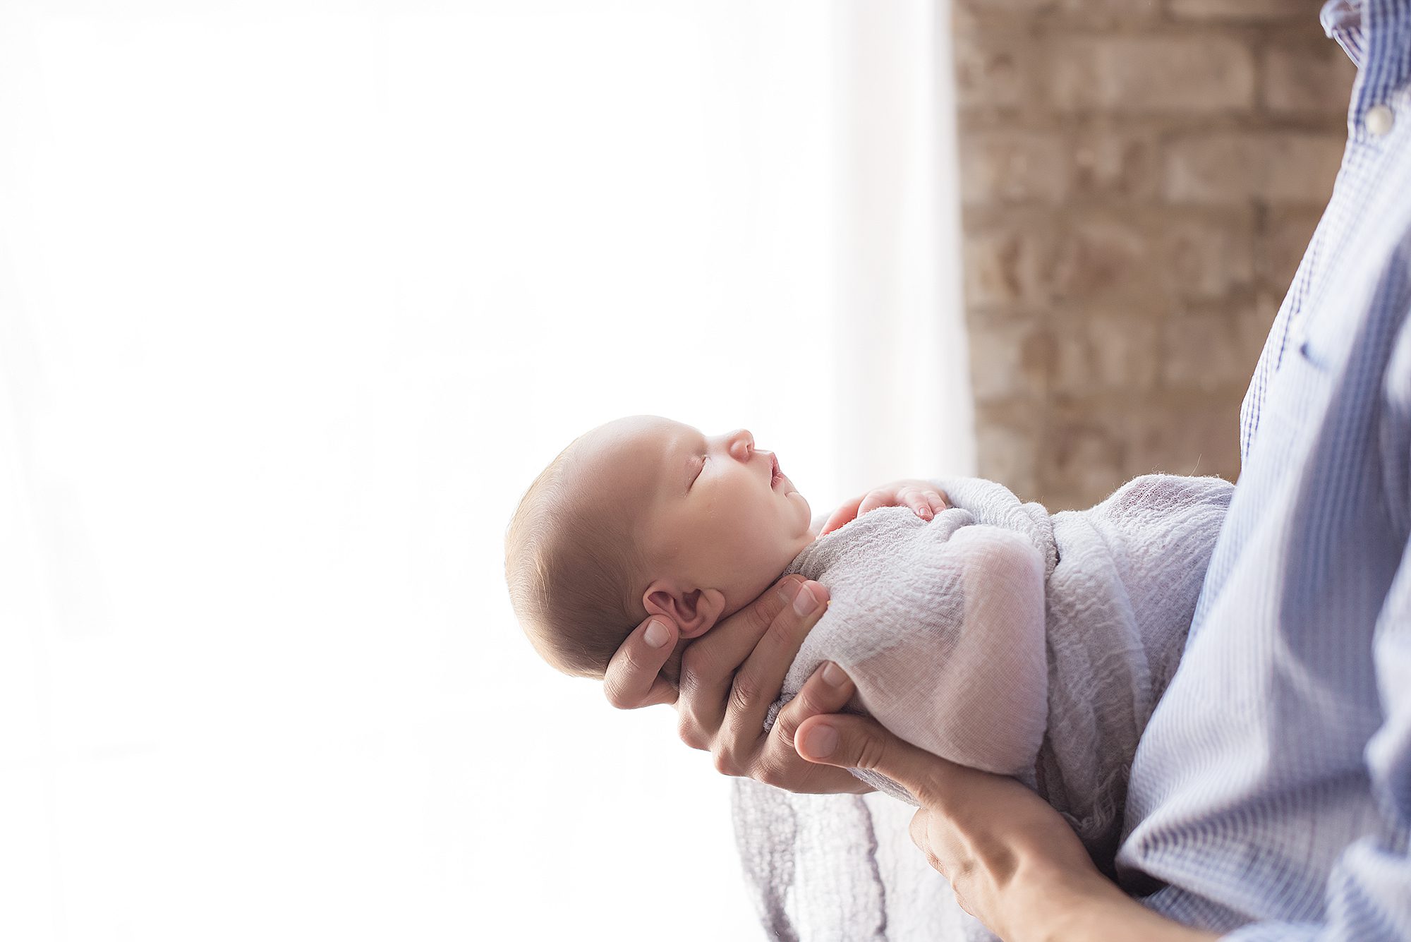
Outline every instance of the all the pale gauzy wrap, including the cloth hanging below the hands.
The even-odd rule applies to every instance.
[[[827,585],[831,605],[766,728],[835,661],[856,684],[851,712],[1015,776],[1110,876],[1132,756],[1180,663],[1233,485],[1149,475],[1089,510],[1050,515],[991,481],[937,484],[952,508],[935,519],[873,510],[794,558],[787,571]],[[854,774],[916,804],[882,776]],[[742,778],[734,814],[773,938],[991,938],[910,845],[906,805]]]

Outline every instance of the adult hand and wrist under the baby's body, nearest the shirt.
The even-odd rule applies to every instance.
[[[854,715],[807,716],[794,743],[810,761],[869,769],[910,791],[920,802],[912,842],[961,907],[1009,942],[1218,938],[1129,898],[1062,816],[1013,778],[947,761]]]

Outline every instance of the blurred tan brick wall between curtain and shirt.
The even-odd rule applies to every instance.
[[[952,0],[979,474],[1055,509],[1237,477],[1346,140],[1319,6]]]

